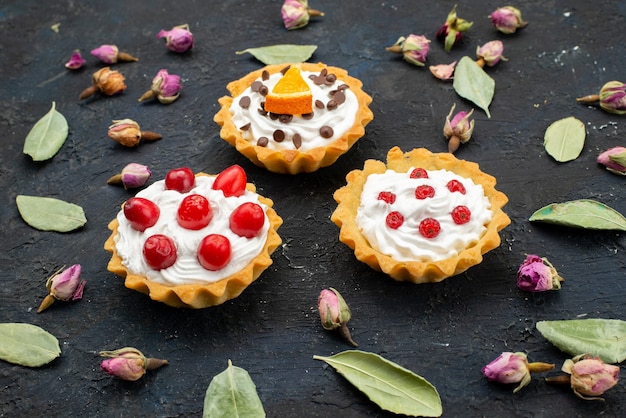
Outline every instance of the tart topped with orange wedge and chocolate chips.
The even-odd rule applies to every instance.
[[[227,86],[214,121],[220,136],[276,173],[333,164],[374,115],[360,80],[322,63],[269,65]]]

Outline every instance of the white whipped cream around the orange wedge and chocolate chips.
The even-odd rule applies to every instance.
[[[337,79],[332,85],[317,85],[309,78],[309,75],[318,75],[319,72],[302,71],[302,78],[311,88],[313,95],[313,103],[316,100],[320,100],[326,104],[332,98],[329,94],[333,90],[337,90],[339,86],[345,84],[343,81]],[[280,72],[270,75],[268,80],[261,81],[269,91],[272,91],[274,85],[282,78]],[[248,87],[241,95],[234,98],[230,107],[230,113],[232,113],[232,121],[237,128],[250,123],[250,128],[247,130],[241,130],[242,137],[256,145],[257,140],[264,136],[269,139],[267,148],[275,150],[293,150],[296,149],[291,138],[294,134],[299,134],[302,137],[302,145],[298,150],[308,151],[313,148],[326,147],[330,145],[337,138],[346,133],[353,125],[356,119],[356,114],[359,109],[359,102],[356,95],[350,91],[350,89],[343,90],[346,100],[340,104],[334,110],[318,109],[313,105],[313,118],[304,119],[300,116],[294,116],[288,123],[282,123],[279,120],[272,120],[269,115],[262,115],[259,113],[261,109],[261,103],[265,101],[265,97],[258,92],[252,91],[251,87]],[[244,97],[250,97],[250,106],[247,109],[242,108],[239,105],[239,100]],[[330,126],[333,129],[333,136],[330,138],[324,138],[320,135],[320,128],[322,126]],[[286,134],[286,138],[282,142],[274,141],[273,134],[277,129],[282,130]]]

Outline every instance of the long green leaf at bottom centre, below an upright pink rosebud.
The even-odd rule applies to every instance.
[[[432,384],[377,354],[350,350],[313,358],[331,365],[384,410],[424,417],[443,413],[441,398]]]

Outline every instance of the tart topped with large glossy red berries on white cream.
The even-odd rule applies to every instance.
[[[174,307],[206,308],[243,292],[272,264],[282,219],[234,165],[187,167],[141,190],[109,223],[109,271]]]

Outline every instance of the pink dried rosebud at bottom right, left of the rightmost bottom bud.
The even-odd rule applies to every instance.
[[[488,380],[493,382],[504,384],[519,383],[513,390],[513,393],[516,393],[530,383],[531,372],[546,372],[553,368],[554,364],[528,363],[526,354],[521,352],[504,352],[483,367],[482,372]]]

